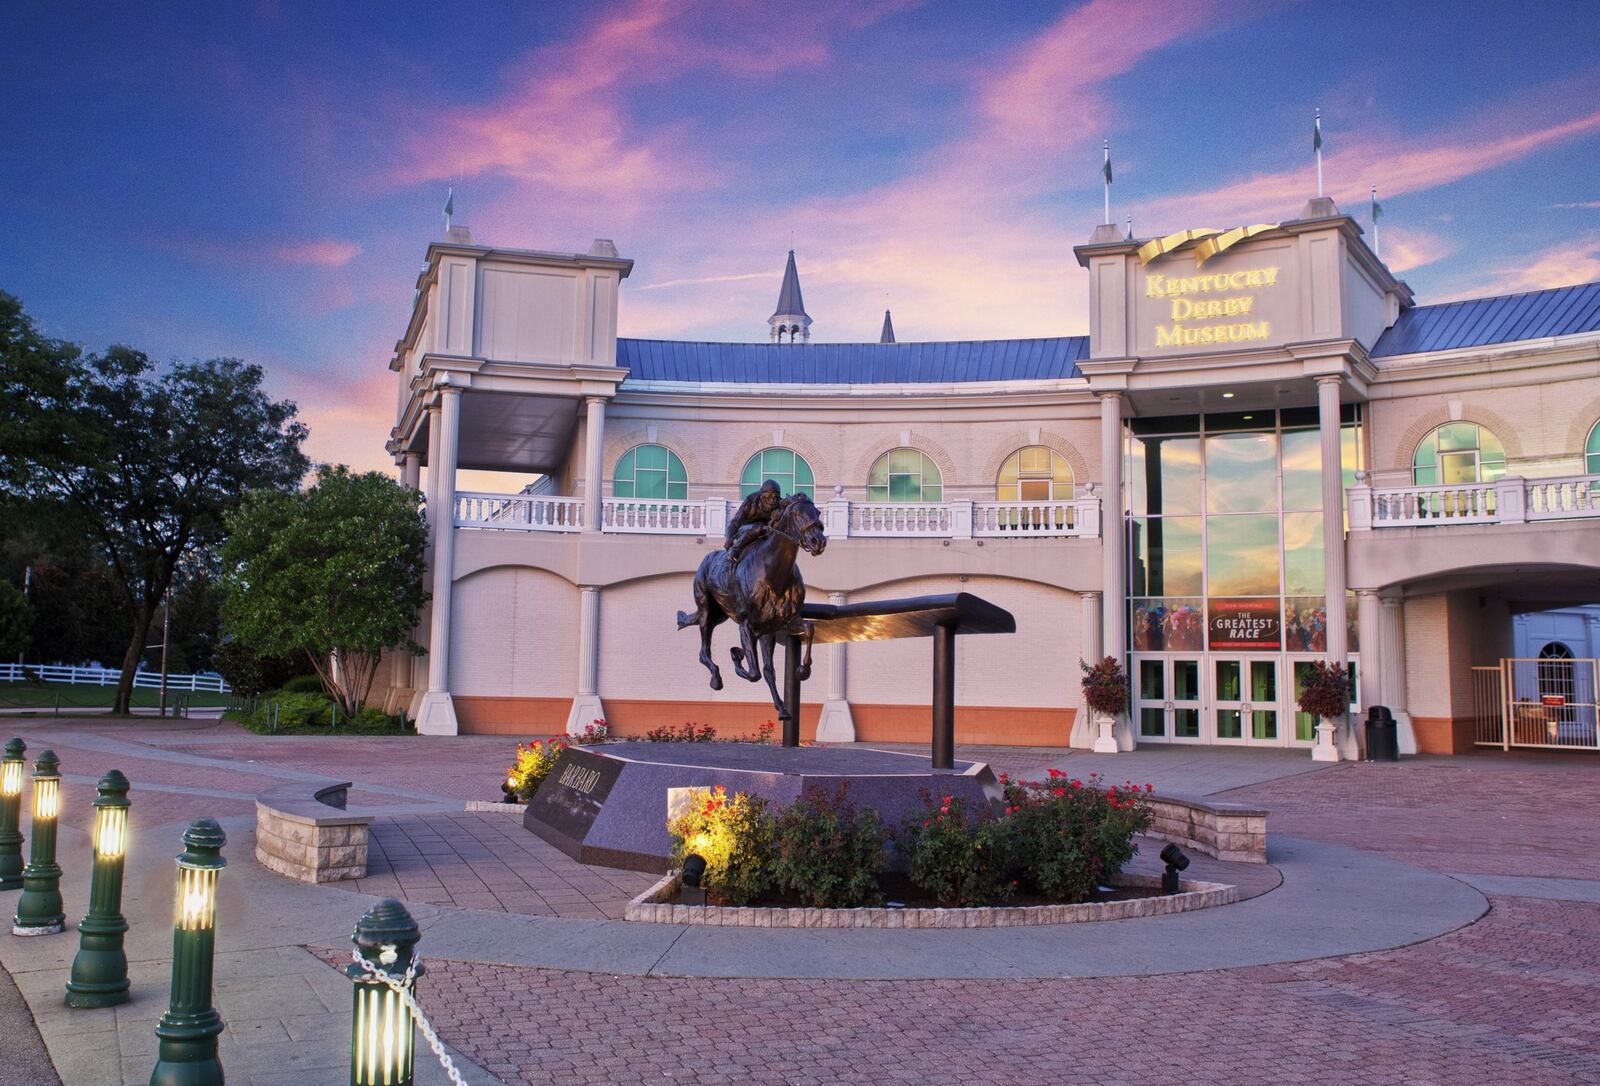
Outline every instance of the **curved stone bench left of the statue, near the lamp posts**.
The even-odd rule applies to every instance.
[[[307,795],[310,790],[310,795]],[[366,875],[370,814],[347,814],[349,781],[283,784],[256,797],[256,859],[302,883]]]

